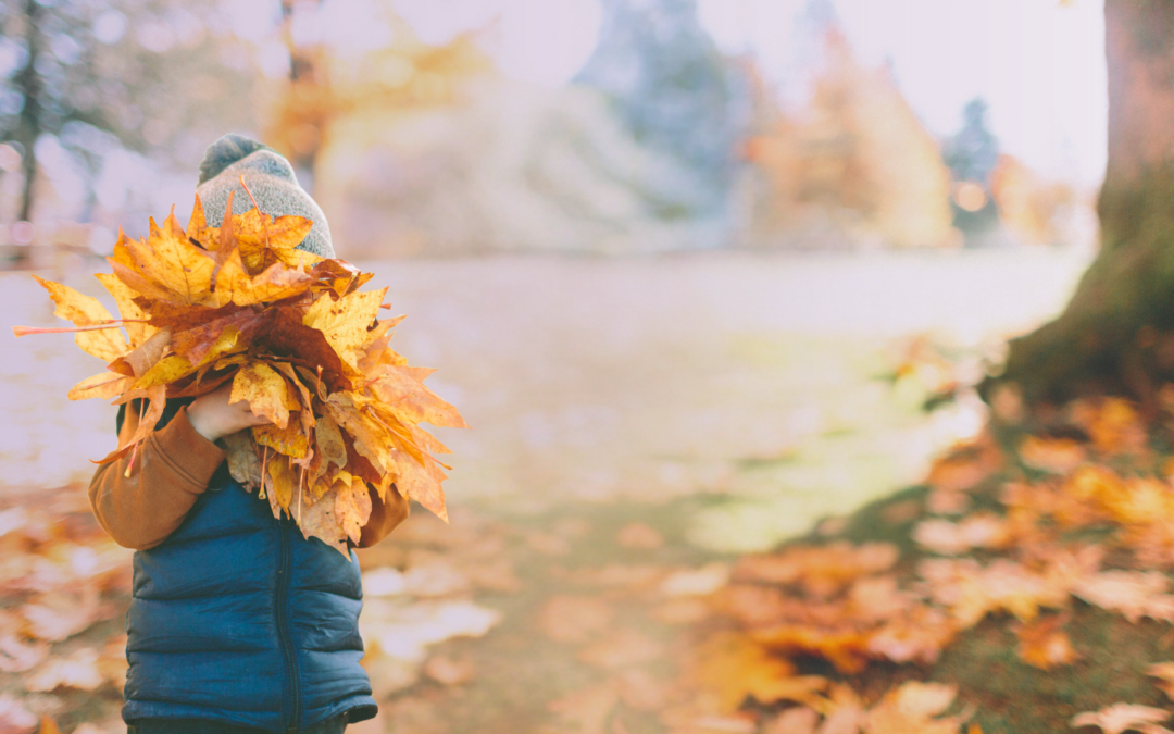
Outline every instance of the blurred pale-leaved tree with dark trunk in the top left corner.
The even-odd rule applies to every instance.
[[[20,221],[46,190],[46,146],[82,171],[87,196],[72,214],[85,222],[113,150],[191,167],[223,130],[255,127],[248,52],[215,6],[4,0],[0,27],[0,139],[21,159]]]

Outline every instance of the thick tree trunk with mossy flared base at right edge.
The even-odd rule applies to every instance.
[[[1100,254],[1064,314],[1011,342],[1028,403],[1089,392],[1153,405],[1174,377],[1174,0],[1105,0],[1108,167]]]

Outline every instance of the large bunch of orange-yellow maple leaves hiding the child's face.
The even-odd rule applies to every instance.
[[[248,400],[271,424],[223,439],[229,471],[308,539],[349,553],[346,539],[358,541],[371,513],[367,485],[447,520],[441,467],[451,467],[432,454],[448,450],[418,424],[467,426],[421,383],[432,370],[387,346],[403,318],[377,319],[387,289],[362,292],[371,274],[298,250],[310,220],[231,210],[230,197],[223,225],[208,227],[197,197],[187,230],[173,207],[146,238],[120,233],[107,258],[113,272],[95,276],[120,319],[95,298],[36,278],[75,329],[18,326],[16,335],[76,331],[79,346],[108,362],[68,397],[139,400],[137,431],[100,463],[130,453],[129,474],[166,398],[231,381],[229,402]]]

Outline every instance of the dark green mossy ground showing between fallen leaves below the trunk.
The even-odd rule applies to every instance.
[[[991,477],[973,491],[973,506],[999,509],[996,492],[1004,478]],[[933,557],[912,539],[917,523],[930,517],[925,510],[929,492],[924,485],[895,492],[846,517],[838,532],[812,531],[794,543],[891,543],[900,548],[896,572],[908,583],[912,580],[917,563]],[[987,554],[979,552],[978,555]],[[863,673],[850,676],[836,675],[835,669],[821,660],[801,660],[799,667],[804,673],[839,678],[866,699],[878,698],[906,680],[956,685],[958,705],[973,707],[972,721],[985,734],[1072,732],[1070,721],[1078,713],[1099,711],[1116,702],[1169,706],[1169,698],[1146,669],[1152,664],[1174,659],[1174,626],[1151,619],[1129,622],[1120,614],[1073,599],[1071,619],[1064,628],[1079,658],[1071,665],[1048,671],[1019,658],[1016,629],[1020,626],[1006,613],[987,615],[959,633],[932,665],[872,664]]]

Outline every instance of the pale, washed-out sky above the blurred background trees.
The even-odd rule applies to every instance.
[[[331,0],[355,2],[357,0]],[[699,0],[718,47],[754,55],[781,93],[795,94],[809,0]],[[1082,187],[1105,170],[1107,97],[1100,0],[832,0],[858,60],[891,65],[926,128],[947,136],[981,96],[989,127],[1039,173]],[[483,43],[511,76],[556,86],[594,48],[598,0],[393,0],[423,40],[486,28]]]

